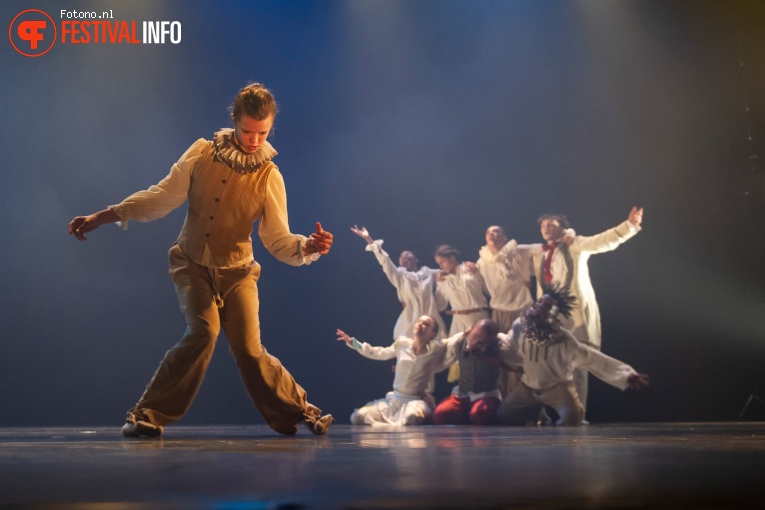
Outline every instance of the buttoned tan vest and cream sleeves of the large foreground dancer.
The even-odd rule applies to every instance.
[[[303,255],[307,238],[289,229],[287,194],[271,161],[273,147],[261,146],[253,156],[262,164],[249,173],[235,172],[215,154],[213,142],[200,138],[159,183],[112,206],[123,228],[131,220],[162,218],[188,199],[178,244],[194,262],[215,268],[251,262],[253,224],[260,220],[258,235],[274,257],[294,266],[310,264],[314,257]]]

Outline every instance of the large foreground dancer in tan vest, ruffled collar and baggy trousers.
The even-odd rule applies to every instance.
[[[266,141],[276,112],[270,91],[248,85],[234,100],[234,129],[194,142],[157,185],[69,223],[69,233],[82,241],[101,225],[119,221],[126,229],[130,220],[162,218],[189,201],[169,251],[186,333],[128,411],[125,436],[158,436],[183,416],[202,384],[221,327],[247,392],[271,428],[295,434],[303,422],[314,434],[324,434],[333,421],[306,401],[305,390],[260,343],[253,223],[260,220],[258,235],[268,251],[290,265],[310,264],[332,246],[332,234],[319,223],[308,238],[290,232],[284,180],[271,161],[276,151]]]

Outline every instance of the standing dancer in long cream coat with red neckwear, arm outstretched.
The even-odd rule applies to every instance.
[[[539,218],[539,228],[545,241],[543,250],[534,255],[537,295],[542,295],[542,285],[554,286],[571,293],[577,306],[564,324],[574,338],[595,349],[600,349],[600,311],[595,291],[590,281],[587,261],[590,255],[615,250],[620,244],[640,231],[643,208],[633,207],[626,221],[594,236],[576,236],[569,245],[561,242],[564,230],[569,227],[563,215],[544,214]],[[587,371],[578,369],[574,381],[579,398],[587,409]]]

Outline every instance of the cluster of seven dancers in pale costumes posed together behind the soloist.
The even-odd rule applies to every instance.
[[[396,288],[403,310],[393,344],[372,346],[337,330],[362,356],[396,359],[393,390],[354,410],[355,425],[586,423],[587,375],[620,389],[648,376],[600,352],[600,314],[590,282],[590,255],[615,249],[640,230],[643,209],[594,236],[578,236],[563,215],[539,218],[544,242],[518,244],[490,226],[477,262],[452,246],[434,255],[439,269],[419,266],[411,251],[396,266],[383,241],[353,226]],[[537,282],[536,301],[530,282]],[[452,317],[446,332],[442,313]],[[436,405],[435,374],[457,383]]]

